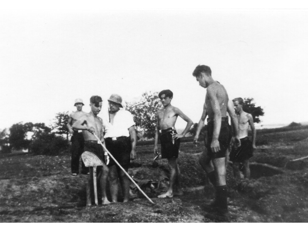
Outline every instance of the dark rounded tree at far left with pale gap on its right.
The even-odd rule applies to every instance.
[[[12,127],[10,127],[10,146],[17,150],[21,148],[28,148],[30,140],[27,139],[27,132],[31,132],[32,127],[32,123],[22,124],[22,122],[19,122],[17,124],[13,124]]]

